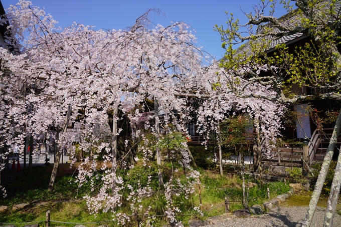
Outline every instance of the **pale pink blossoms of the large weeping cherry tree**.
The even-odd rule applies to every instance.
[[[154,121],[160,122],[161,134],[175,130],[186,135],[186,124],[198,119],[199,132],[208,135],[217,129],[218,120],[239,110],[258,119],[263,150],[274,148],[283,106],[270,101],[274,96],[270,87],[248,83],[209,62],[185,23],[152,27],[146,23],[145,14],[124,30],[94,30],[76,23],[57,28],[52,16],[24,0],[8,9],[7,20],[10,26],[5,40],[7,47],[15,48],[13,52],[0,48],[0,147],[9,148],[2,156],[5,158],[17,144],[23,153],[30,135],[37,147],[45,141],[68,146],[73,163],[81,161],[79,186],[90,182],[92,187],[85,196],[91,213],[112,211],[124,224],[130,215],[117,211],[123,199],[130,202],[131,211],[151,211],[150,206],[141,206],[142,197],[152,195],[148,193],[151,176],[147,185],[133,186],[124,182],[119,170],[134,168],[139,161],[137,152],[143,157],[143,165],[149,166],[154,151],[146,146],[145,134],[156,135]],[[157,100],[157,113],[148,109],[146,99]],[[197,111],[188,105],[195,100],[200,102]],[[65,125],[69,106],[72,112]],[[117,106],[120,117],[112,114]],[[197,112],[196,117],[193,112]],[[111,144],[122,134],[122,128],[113,131],[108,124],[111,116],[113,122],[124,117],[130,122],[130,140],[135,145],[128,148],[130,140],[124,140],[124,157],[112,152]],[[143,139],[144,145],[139,143],[135,149]],[[189,198],[200,184],[200,174],[190,166],[186,147],[184,142],[167,157],[186,172],[186,180],[172,174],[162,186],[165,213],[171,222],[177,222],[177,213],[181,212],[177,197],[183,194]],[[127,161],[126,156],[133,157]],[[101,163],[96,161],[99,157]],[[129,192],[127,196],[125,191]]]

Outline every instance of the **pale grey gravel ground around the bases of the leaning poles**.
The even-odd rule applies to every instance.
[[[228,226],[243,226],[243,227],[272,227],[272,226],[302,226],[307,206],[288,206],[275,207],[270,212],[246,218],[230,219],[221,223],[206,225],[205,227],[228,227]],[[325,208],[317,207],[312,219],[311,227],[323,226]],[[334,227],[341,226],[341,216],[335,213],[333,220]]]

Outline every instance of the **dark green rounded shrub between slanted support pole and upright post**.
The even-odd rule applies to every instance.
[[[192,156],[197,164],[198,167],[203,169],[214,169],[216,164],[212,160],[213,151],[211,150],[212,147],[209,147],[207,150],[205,147],[196,146],[196,147],[189,147],[192,153]]]

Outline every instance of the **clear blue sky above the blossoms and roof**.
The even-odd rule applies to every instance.
[[[19,0],[2,0],[5,10],[15,5]],[[135,20],[148,9],[157,8],[165,16],[155,16],[153,22],[167,26],[170,22],[183,21],[190,24],[194,30],[199,46],[203,50],[220,59],[224,50],[221,48],[220,36],[213,31],[215,25],[224,25],[226,14],[233,13],[235,18],[246,22],[241,9],[250,13],[258,0],[32,0],[34,6],[45,7],[45,12],[51,14],[59,22],[58,26],[68,27],[73,22],[96,26],[95,29],[124,29],[132,26]],[[277,8],[276,16],[286,12]]]

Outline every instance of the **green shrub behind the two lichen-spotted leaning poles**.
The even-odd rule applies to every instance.
[[[336,164],[337,164],[337,162],[335,162],[335,161],[330,162],[329,169],[327,172],[327,176],[325,177],[325,181],[324,181],[322,191],[321,191],[321,194],[324,196],[329,196],[331,183],[332,183],[332,180],[334,178]],[[315,183],[317,181],[317,177],[318,177],[318,174],[321,170],[321,167],[322,167],[322,163],[315,163],[315,164],[311,165],[311,168],[313,169],[312,172],[314,174],[314,176],[311,177],[311,188],[312,189],[315,188]]]

